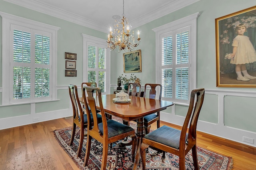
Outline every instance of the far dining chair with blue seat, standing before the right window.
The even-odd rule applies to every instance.
[[[150,87],[149,92],[147,93],[146,89],[147,87]],[[158,100],[161,100],[161,96],[162,96],[162,85],[161,84],[145,84],[144,86],[145,90],[144,90],[144,94],[143,97],[145,98],[146,96],[149,96],[150,99],[155,99],[156,98],[156,90],[158,90],[159,94],[158,94]],[[151,124],[157,121],[157,128],[160,127],[160,111],[158,111],[156,114],[152,113],[150,115],[144,116],[143,117],[144,120],[144,130],[145,133],[148,134],[150,131],[150,127]]]

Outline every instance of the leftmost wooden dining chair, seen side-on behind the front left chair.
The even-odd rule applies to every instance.
[[[83,140],[84,140],[84,129],[88,125],[86,113],[90,113],[90,111],[88,111],[88,112],[83,111],[81,103],[79,101],[77,86],[69,84],[68,89],[69,89],[70,100],[71,100],[72,107],[73,107],[73,127],[72,127],[72,135],[71,135],[69,145],[70,146],[73,145],[74,137],[76,134],[76,126],[80,127],[80,139],[79,139],[79,145],[78,145],[78,151],[77,151],[77,156],[80,156],[81,151],[82,151]],[[97,117],[98,117],[98,122],[102,122],[101,115],[97,114]],[[93,122],[93,120],[91,122]]]

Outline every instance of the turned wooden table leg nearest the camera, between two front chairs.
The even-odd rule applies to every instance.
[[[133,170],[137,170],[137,166],[139,164],[140,161],[140,145],[142,143],[142,138],[144,137],[144,121],[143,121],[143,117],[137,119],[137,150],[136,150],[136,156],[135,156],[135,160],[134,160],[134,165],[133,165]]]

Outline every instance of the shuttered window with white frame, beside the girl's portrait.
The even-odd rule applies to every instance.
[[[156,32],[156,77],[162,98],[188,104],[196,87],[196,18],[198,14],[154,29]]]

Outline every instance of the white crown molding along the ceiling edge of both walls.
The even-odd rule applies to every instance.
[[[16,4],[31,10],[35,10],[50,16],[54,16],[56,18],[60,18],[62,20],[70,21],[72,23],[76,23],[85,27],[89,27],[98,31],[102,31],[104,33],[108,32],[108,25],[101,25],[99,23],[96,23],[94,21],[82,18],[81,16],[78,16],[76,14],[66,12],[59,10],[57,8],[52,8],[51,6],[47,6],[45,4],[42,4],[40,2],[35,2],[33,0],[4,0],[6,2],[10,2],[12,4]],[[133,25],[133,29],[136,27],[139,27],[141,25],[144,25],[150,21],[156,20],[162,16],[165,16],[167,14],[170,14],[176,10],[179,10],[181,8],[184,8],[185,6],[188,6],[190,4],[193,4],[195,2],[198,2],[199,0],[176,0],[171,4],[168,4],[162,8],[157,8],[154,11],[150,11],[149,13],[140,16],[136,20],[130,21],[130,23]]]

